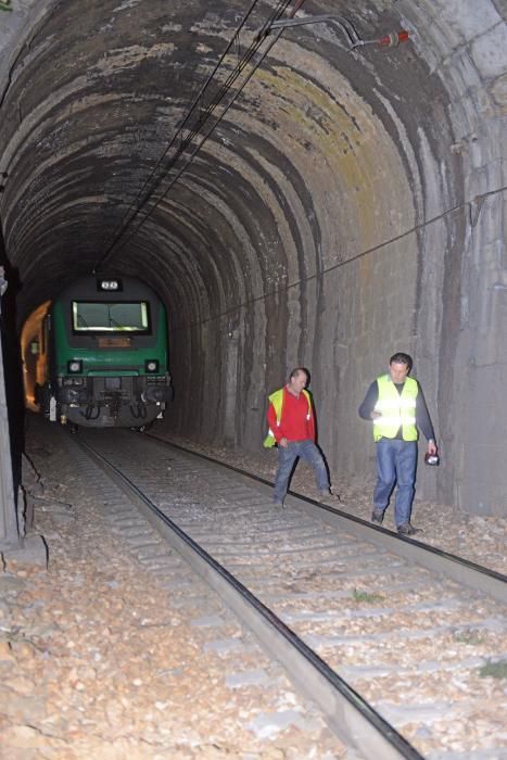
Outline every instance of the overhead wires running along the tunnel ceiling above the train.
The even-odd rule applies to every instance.
[[[236,102],[238,96],[242,92],[246,84],[250,81],[251,77],[255,73],[255,71],[258,68],[269,50],[272,48],[272,46],[276,43],[276,41],[279,39],[280,35],[283,31],[283,28],[280,28],[276,35],[274,35],[271,38],[269,38],[269,41],[267,46],[265,46],[265,41],[268,37],[267,31],[270,27],[270,25],[274,23],[274,21],[279,20],[283,16],[286,11],[289,9],[292,0],[281,0],[278,2],[277,7],[271,11],[269,14],[268,18],[264,22],[262,25],[261,29],[257,31],[255,35],[254,40],[251,42],[251,45],[246,48],[242,56],[239,59],[238,63],[236,64],[235,68],[229,73],[227,76],[226,80],[220,85],[217,93],[213,97],[207,99],[207,104],[206,103],[206,96],[208,94],[208,90],[213,87],[215,84],[217,76],[219,75],[221,68],[226,65],[226,59],[229,55],[231,49],[235,47],[235,45],[239,49],[240,45],[240,33],[244,28],[249,17],[252,15],[253,10],[255,9],[256,4],[258,3],[259,0],[254,0],[252,5],[250,7],[249,11],[244,15],[243,20],[241,21],[238,29],[236,30],[235,35],[232,36],[229,45],[227,46],[226,50],[221,54],[218,63],[215,65],[215,68],[213,72],[210,74],[207,77],[206,81],[204,83],[203,87],[201,88],[199,94],[197,96],[195,100],[193,101],[187,116],[183,118],[182,123],[178,127],[177,131],[173,136],[172,140],[167,144],[166,149],[164,150],[162,156],[159,159],[156,165],[153,167],[152,172],[150,173],[149,177],[142,185],[141,189],[139,190],[136,199],[129,204],[128,208],[125,211],[122,220],[119,221],[118,226],[116,227],[115,232],[111,236],[111,242],[106,244],[105,251],[102,254],[102,256],[96,262],[93,266],[93,271],[98,271],[99,268],[101,268],[107,259],[110,259],[115,252],[115,250],[118,246],[118,243],[123,240],[124,243],[128,242],[137,232],[138,230],[142,227],[143,224],[150,218],[150,216],[153,214],[157,205],[164,200],[164,198],[167,195],[169,190],[174,187],[174,185],[178,181],[180,176],[183,174],[183,172],[187,169],[187,167],[192,163],[193,159],[195,157],[197,153],[201,150],[203,144],[206,142],[206,140],[210,138],[212,132],[215,130],[217,125],[220,123],[220,121],[224,118],[226,113],[229,111],[229,109]],[[303,4],[304,0],[296,0],[295,5],[291,9],[290,13],[286,17],[292,17],[301,8]],[[265,50],[261,53],[259,58],[253,62],[254,56],[256,53],[259,51],[261,47],[265,47]],[[240,83],[239,87],[233,89],[233,85],[237,81],[237,79],[243,74],[244,69],[249,66],[250,64],[250,71],[245,75],[244,79],[242,83]],[[227,96],[232,92],[231,98],[227,99]],[[223,101],[227,99],[227,102],[224,104]],[[223,106],[221,113],[219,113],[217,116],[215,116],[215,121],[212,122],[210,125],[210,128],[207,131],[205,131],[206,125],[208,125],[208,122],[211,117],[214,115],[215,111]],[[197,118],[192,118],[197,115]],[[188,134],[183,136],[185,130],[188,129]],[[177,170],[176,175],[173,177],[170,180],[169,185],[165,189],[165,191],[162,193],[162,195],[155,200],[151,207],[145,211],[147,205],[151,200],[153,200],[154,193],[156,192],[157,188],[162,185],[162,182],[167,179],[168,175],[170,174],[172,169],[175,168],[178,160],[183,156],[183,154],[187,152],[187,149],[191,147],[193,140],[195,137],[199,136],[199,134],[204,132],[204,136],[200,142],[198,142],[193,149],[191,149],[190,155],[188,155],[187,161],[183,163],[181,168]],[[178,144],[179,141],[179,144]],[[168,154],[170,151],[174,150],[174,154],[168,157]],[[167,161],[166,161],[167,159]],[[141,214],[143,216],[132,228],[132,225],[136,220],[137,217],[139,217]],[[127,230],[130,229],[130,232],[126,237]]]

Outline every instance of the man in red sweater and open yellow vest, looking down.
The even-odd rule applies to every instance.
[[[322,455],[315,445],[315,418],[312,397],[306,390],[309,373],[304,367],[293,369],[283,388],[269,396],[266,448],[278,444],[278,472],[272,494],[274,504],[283,505],[295,460],[301,457],[314,468],[317,487],[322,496],[332,496]]]

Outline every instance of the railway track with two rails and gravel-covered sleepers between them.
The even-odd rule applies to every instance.
[[[148,436],[74,440],[364,757],[507,758],[504,577]]]

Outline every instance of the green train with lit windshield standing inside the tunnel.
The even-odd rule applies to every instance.
[[[77,280],[52,303],[41,339],[36,402],[51,421],[144,429],[163,417],[173,398],[167,316],[140,280]]]

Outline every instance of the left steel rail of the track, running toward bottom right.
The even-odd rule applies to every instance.
[[[223,598],[328,725],[366,760],[423,760],[422,756],[286,623],[151,502],[119,469],[79,436],[73,441],[134,502],[142,515]],[[168,444],[169,445],[169,444]],[[172,444],[170,444],[172,445]]]

